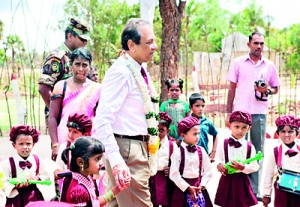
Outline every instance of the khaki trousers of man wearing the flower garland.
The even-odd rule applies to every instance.
[[[149,191],[149,162],[147,143],[131,139],[116,138],[120,153],[130,169],[131,183],[117,194],[107,207],[152,207]],[[105,159],[108,189],[116,185],[109,161]]]

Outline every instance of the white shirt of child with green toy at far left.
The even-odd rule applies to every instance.
[[[26,160],[24,160],[19,154],[15,154],[13,156],[14,158],[14,162],[16,165],[16,173],[17,173],[17,178],[22,178],[22,177],[30,177],[30,176],[36,176],[36,161],[34,159],[34,156],[31,154],[28,156],[28,158]],[[28,169],[27,167],[23,170],[22,168],[20,168],[19,166],[19,162],[20,161],[29,161],[32,166],[30,169]],[[39,174],[38,177],[40,178],[40,180],[49,180],[50,176],[47,173],[45,166],[43,165],[43,161],[39,158],[40,161],[40,169],[39,169]],[[15,189],[15,185],[10,184],[7,179],[11,178],[11,166],[10,166],[10,162],[9,159],[3,160],[1,162],[1,168],[3,170],[3,174],[4,174],[4,193],[8,198],[14,198],[16,197],[19,193],[18,190]],[[37,185],[37,187],[39,187],[39,185]]]

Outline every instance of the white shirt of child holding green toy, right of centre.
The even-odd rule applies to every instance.
[[[235,148],[234,146],[230,146],[228,144],[228,161],[233,161],[233,160],[240,160],[243,161],[246,159],[247,157],[247,149],[248,149],[248,144],[247,144],[247,140],[245,139],[245,137],[237,140],[233,137],[231,137],[232,139],[234,139],[235,141],[238,141],[242,144],[241,147],[239,148]],[[253,146],[253,144],[251,144],[251,154],[250,154],[250,158],[254,157],[256,155],[256,150]],[[217,164],[226,164],[225,163],[225,152],[224,152],[224,140],[218,142],[218,147],[217,147],[217,152],[216,152],[216,163]],[[245,173],[245,174],[250,174],[253,172],[258,171],[259,169],[259,165],[257,163],[257,161],[253,161],[250,162],[249,164],[245,164],[245,168],[244,170],[237,170],[236,173]]]

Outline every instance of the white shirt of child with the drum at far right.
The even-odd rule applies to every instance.
[[[293,157],[289,157],[288,155],[285,155],[286,151],[289,150],[290,148],[288,148],[281,140],[280,140],[280,144],[276,146],[278,147],[278,156],[279,156],[280,145],[282,146],[282,155],[281,155],[282,169],[291,170],[294,172],[300,172],[300,151],[297,148],[297,143],[291,148],[298,152],[298,154]],[[272,148],[271,150],[268,151],[268,153],[265,155],[264,158],[264,164],[263,164],[263,175],[265,175],[264,186],[263,186],[264,195],[271,195],[275,174],[278,174],[278,170],[275,161],[274,148]]]

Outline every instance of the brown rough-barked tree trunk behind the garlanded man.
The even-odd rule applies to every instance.
[[[162,18],[161,102],[168,98],[165,80],[178,78],[179,39],[185,5],[185,1],[179,1],[177,6],[176,0],[159,0],[159,11]]]

